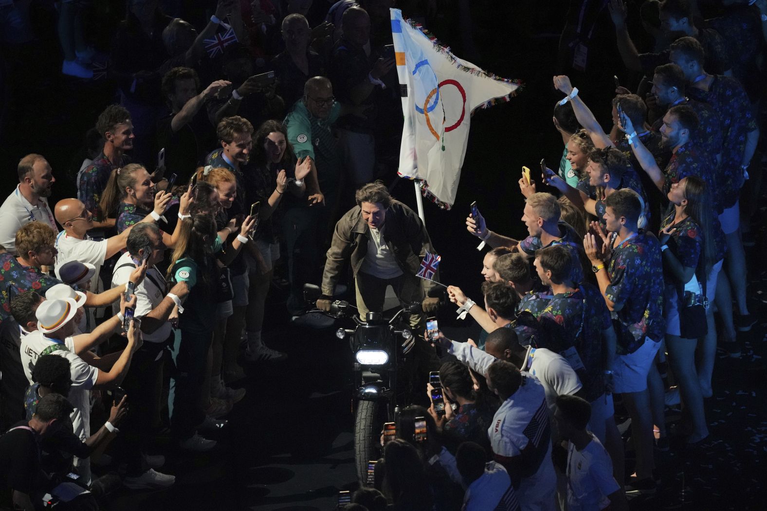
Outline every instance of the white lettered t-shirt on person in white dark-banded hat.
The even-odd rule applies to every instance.
[[[39,330],[30,332],[27,336],[21,337],[21,365],[24,366],[24,374],[32,384],[32,368],[35,367],[40,353],[48,346],[58,344],[52,339],[48,339]],[[74,426],[74,434],[85,441],[91,436],[91,388],[96,385],[98,379],[98,369],[88,365],[83,359],[74,353],[74,340],[67,337],[64,344],[67,350],[57,349],[51,352],[51,355],[62,356],[69,360],[70,378],[72,378],[72,387],[67,398],[74,406],[70,418]]]

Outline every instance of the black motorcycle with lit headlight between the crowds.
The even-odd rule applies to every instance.
[[[304,284],[304,300],[314,303],[321,290],[313,284]],[[318,312],[317,309],[311,312]],[[404,360],[413,350],[416,336],[410,330],[407,318],[421,312],[421,303],[405,303],[391,319],[382,313],[367,313],[360,319],[357,308],[344,300],[331,303],[324,313],[334,319],[351,317],[354,329],[339,328],[338,339],[349,339],[354,352],[354,460],[360,485],[367,485],[367,464],[380,457],[380,436],[385,422],[393,422],[400,405],[408,405],[407,392],[397,387],[402,379]],[[401,382],[400,382],[400,386]]]

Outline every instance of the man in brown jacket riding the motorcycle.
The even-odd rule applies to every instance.
[[[389,195],[381,182],[368,183],[355,194],[357,205],[335,226],[322,276],[322,295],[317,308],[331,310],[333,294],[347,261],[357,289],[357,309],[365,321],[368,312],[384,312],[387,286],[400,302],[421,302],[424,313],[436,313],[439,298],[430,297],[437,284],[416,277],[421,259],[434,254],[426,226],[415,211]],[[439,276],[435,271],[434,279]],[[423,332],[423,314],[412,314],[413,332]],[[416,346],[426,343],[418,342]],[[433,355],[433,352],[431,353]]]

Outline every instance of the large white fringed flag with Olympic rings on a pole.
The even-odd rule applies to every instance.
[[[405,123],[399,175],[416,179],[427,198],[449,209],[456,200],[469,118],[508,101],[521,84],[462,61],[419,25],[390,9]]]

